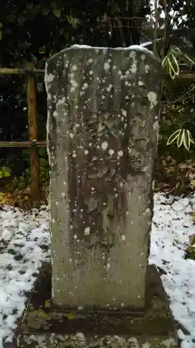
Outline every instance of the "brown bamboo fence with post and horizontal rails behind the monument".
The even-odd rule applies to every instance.
[[[25,69],[0,68],[0,75],[27,75],[26,101],[28,106],[28,141],[0,141],[0,148],[31,148],[31,196],[35,200],[40,196],[40,159],[38,148],[46,146],[46,141],[37,140],[37,102],[36,82],[33,75],[44,75],[44,69],[34,68],[28,63]],[[180,73],[178,79],[195,80],[195,74]]]

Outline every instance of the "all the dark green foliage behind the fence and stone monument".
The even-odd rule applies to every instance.
[[[171,0],[167,3],[168,10],[178,11],[177,15],[173,15],[173,23],[178,28],[176,36],[180,37],[181,33],[186,35],[195,47],[194,1]],[[162,9],[163,1],[161,5]],[[0,6],[0,67],[6,68],[24,68],[28,61],[33,61],[36,68],[44,68],[49,56],[74,43],[109,47],[139,44],[141,21],[144,22],[145,15],[150,11],[147,0],[0,0]],[[187,20],[179,23],[183,14],[187,15]],[[121,26],[122,29],[119,29]],[[166,49],[171,45],[171,34],[172,27],[169,26]],[[149,33],[144,31],[144,37],[150,39]],[[44,140],[46,93],[43,76],[37,76],[36,80],[39,139]],[[192,83],[178,83],[177,80],[166,86],[162,99],[176,100],[178,95],[182,97],[192,87]],[[191,152],[178,150],[174,145],[167,148],[167,140],[174,130],[183,125],[195,138],[193,93],[192,90],[185,99],[177,102],[176,107],[168,107],[162,115],[160,155],[178,156],[180,160],[192,156]],[[27,140],[26,77],[0,76],[0,96],[0,141]],[[15,183],[18,177],[24,182],[29,181],[29,150],[0,148],[0,159],[0,166],[7,165],[12,171],[12,178],[16,177]],[[41,180],[48,178],[46,160],[44,153],[40,160]]]

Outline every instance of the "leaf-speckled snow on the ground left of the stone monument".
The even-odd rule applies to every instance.
[[[24,213],[5,206],[0,211],[0,348],[12,341],[16,321],[37,269],[48,257],[49,219],[46,207]]]

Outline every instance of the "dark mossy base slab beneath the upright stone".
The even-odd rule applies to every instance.
[[[51,302],[51,265],[40,270],[26,313],[19,321],[17,347],[179,347],[160,274],[149,266],[145,313],[67,312]]]

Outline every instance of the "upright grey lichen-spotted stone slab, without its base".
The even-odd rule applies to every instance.
[[[160,63],[71,47],[46,65],[53,301],[143,309]]]

